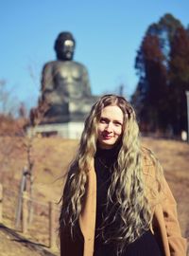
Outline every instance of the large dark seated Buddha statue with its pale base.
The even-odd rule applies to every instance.
[[[39,105],[47,102],[49,107],[36,128],[39,133],[78,137],[84,119],[98,98],[92,96],[86,67],[73,61],[75,47],[73,35],[61,32],[54,46],[58,60],[43,66]]]

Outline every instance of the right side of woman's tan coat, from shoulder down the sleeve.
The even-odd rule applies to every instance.
[[[176,200],[165,180],[162,166],[149,152],[143,154],[143,169],[147,198],[154,212],[154,235],[163,246],[165,255],[186,256],[186,239],[181,236]]]

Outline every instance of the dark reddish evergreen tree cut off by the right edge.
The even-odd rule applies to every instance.
[[[174,134],[187,131],[187,102],[189,90],[189,35],[186,29],[177,29],[171,43],[169,62],[169,99],[171,124]]]

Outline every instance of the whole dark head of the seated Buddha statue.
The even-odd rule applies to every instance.
[[[74,56],[76,41],[70,32],[61,32],[55,41],[58,60],[71,61]]]

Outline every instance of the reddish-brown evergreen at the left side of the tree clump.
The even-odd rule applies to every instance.
[[[139,54],[136,60],[136,67],[142,70],[136,90],[138,95],[135,94],[132,100],[134,101],[135,97],[134,103],[138,109],[141,124],[146,123],[146,130],[163,130],[162,95],[166,86],[166,69],[163,65],[164,57],[157,36],[146,35],[141,46],[141,55]]]

